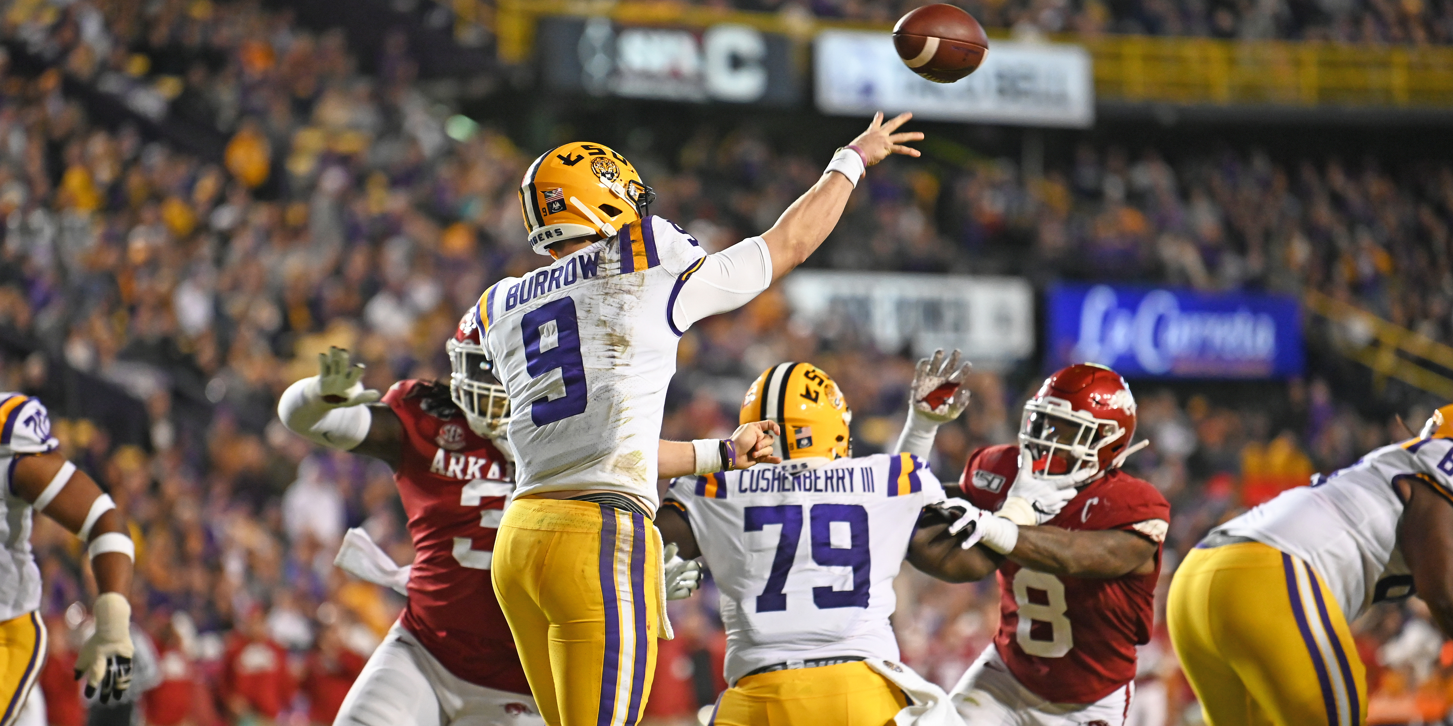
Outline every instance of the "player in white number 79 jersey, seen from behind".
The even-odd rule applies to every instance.
[[[888,620],[920,517],[944,501],[924,457],[937,424],[968,404],[956,363],[958,354],[949,366],[920,366],[915,404],[918,391],[949,391],[912,408],[899,453],[859,457],[847,404],[825,372],[767,369],[741,418],[777,421],[785,462],[671,482],[661,531],[684,556],[700,553],[721,588],[731,688],[712,723],[962,723],[942,690],[898,662]]]

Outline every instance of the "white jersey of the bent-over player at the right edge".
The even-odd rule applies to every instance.
[[[1216,531],[1251,537],[1312,565],[1347,620],[1369,605],[1412,594],[1398,547],[1404,502],[1396,476],[1417,476],[1453,499],[1453,439],[1434,436],[1375,449],[1329,476],[1315,476]]]

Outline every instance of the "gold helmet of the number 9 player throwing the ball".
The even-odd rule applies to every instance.
[[[565,240],[615,237],[645,218],[654,199],[626,157],[580,141],[541,154],[520,182],[525,229],[539,254]]]

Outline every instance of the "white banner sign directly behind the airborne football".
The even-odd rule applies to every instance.
[[[920,119],[1088,128],[1094,123],[1090,54],[1078,45],[989,41],[984,65],[958,83],[910,71],[888,33],[824,30],[815,44],[817,105],[824,113],[914,112]]]

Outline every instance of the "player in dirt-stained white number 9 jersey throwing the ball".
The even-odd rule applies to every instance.
[[[551,725],[631,726],[665,620],[652,524],[665,389],[680,335],[756,298],[827,238],[867,166],[918,155],[882,115],[760,237],[706,254],[649,216],[654,192],[620,154],[571,142],[520,183],[530,247],[554,263],[490,286],[475,306],[510,396],[516,494],[491,575],[520,664]],[[757,423],[766,434],[770,423]],[[699,470],[737,459],[693,441]]]

